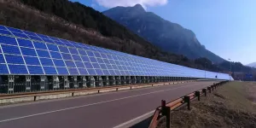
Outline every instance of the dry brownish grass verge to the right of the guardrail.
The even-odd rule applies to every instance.
[[[172,113],[174,128],[256,127],[256,84],[232,82],[192,102],[192,110],[185,108]],[[165,119],[164,119],[165,120]],[[165,127],[164,121],[160,123]]]

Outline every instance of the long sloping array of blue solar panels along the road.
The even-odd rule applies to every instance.
[[[168,76],[230,79],[111,49],[0,26],[0,74]]]

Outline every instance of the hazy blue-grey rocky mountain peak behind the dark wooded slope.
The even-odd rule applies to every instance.
[[[201,45],[194,32],[146,12],[140,4],[116,7],[102,13],[165,51],[186,55],[190,59],[206,57],[213,62],[224,61]]]

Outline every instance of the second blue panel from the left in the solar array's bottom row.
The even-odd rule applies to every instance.
[[[25,65],[8,65],[11,74],[28,74]]]

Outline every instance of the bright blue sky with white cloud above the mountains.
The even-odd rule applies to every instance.
[[[195,32],[220,57],[248,64],[256,61],[255,0],[71,0],[100,12],[116,6],[143,8]]]

